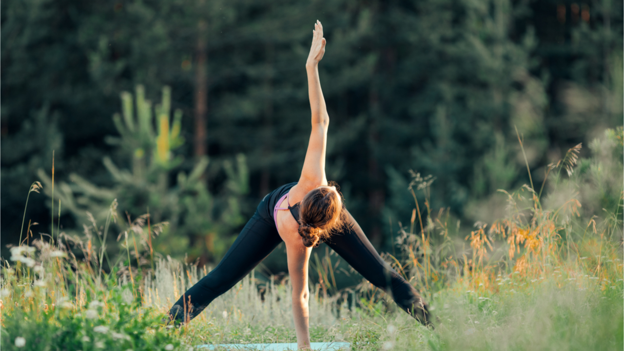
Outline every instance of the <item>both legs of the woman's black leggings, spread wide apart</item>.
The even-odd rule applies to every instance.
[[[429,324],[426,304],[416,289],[379,257],[351,214],[348,214],[348,219],[348,225],[344,225],[341,232],[331,235],[326,244],[373,285],[389,290],[401,309],[420,322]],[[249,274],[280,242],[282,240],[273,218],[263,217],[256,211],[217,267],[190,287],[173,305],[169,312],[170,319],[185,322],[195,318],[212,300]],[[185,301],[186,319],[183,317]]]

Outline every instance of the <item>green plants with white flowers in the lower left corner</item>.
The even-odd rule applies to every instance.
[[[4,304],[11,302],[2,310],[2,349],[167,350],[167,345],[180,347],[180,340],[161,327],[162,314],[153,307],[141,307],[132,299],[127,287],[115,284],[116,272],[112,280],[105,279],[104,285],[108,287],[102,289],[103,285],[95,276],[78,277],[71,265],[64,265],[66,253],[52,250],[42,242],[38,245],[41,250],[24,246],[12,248],[16,265],[13,268],[6,265],[2,269],[2,299]],[[78,274],[82,273],[76,268]],[[70,292],[80,285],[80,294],[78,288],[74,288],[76,299],[67,297],[65,280],[72,282]],[[20,345],[19,339],[24,345]]]

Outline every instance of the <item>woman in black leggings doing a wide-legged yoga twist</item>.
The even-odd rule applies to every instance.
[[[208,275],[173,305],[168,322],[188,322],[212,300],[247,275],[281,242],[286,244],[288,273],[293,286],[293,315],[297,344],[310,349],[308,331],[308,259],[323,240],[376,287],[391,292],[394,301],[414,318],[429,325],[421,296],[384,262],[363,230],[344,208],[341,195],[325,177],[325,146],[329,116],[321,92],[318,62],[325,52],[321,22],[314,24],[306,70],[312,109],[312,132],[298,182],[282,185],[258,205],[230,250]]]

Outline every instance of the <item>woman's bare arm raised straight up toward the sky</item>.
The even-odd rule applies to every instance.
[[[329,116],[323,91],[321,91],[321,81],[318,77],[318,62],[323,59],[325,53],[325,38],[323,37],[323,25],[316,21],[312,37],[312,46],[306,62],[308,71],[308,96],[310,97],[310,109],[312,111],[312,132],[306,159],[301,170],[301,185],[326,185],[325,177],[325,148],[327,144],[327,128],[329,126]]]

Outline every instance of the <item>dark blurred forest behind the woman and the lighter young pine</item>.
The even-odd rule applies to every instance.
[[[183,111],[179,135],[187,141],[195,132],[196,99],[207,97],[213,191],[226,181],[216,166],[239,153],[248,160],[250,202],[298,179],[310,132],[303,64],[316,19],[328,39],[319,67],[332,121],[328,177],[347,190],[349,210],[375,245],[392,241],[388,217],[409,217],[411,209],[409,195],[387,169],[403,178],[408,169],[434,175],[432,207],[451,207],[472,222],[495,204],[497,189],[527,182],[517,172],[524,157],[514,126],[540,183],[542,167],[622,120],[621,2],[588,2],[587,21],[574,19],[575,4],[553,1],[25,0],[0,6],[0,117],[3,143],[11,143],[3,144],[0,160],[8,189],[3,218],[21,211],[21,194],[36,180],[25,165],[51,169],[42,164],[51,161],[51,149],[62,179],[75,173],[110,187],[100,159],[128,161],[127,151],[110,154],[104,143],[104,136],[117,133],[110,114],[117,92],[139,83],[146,95],[173,88],[171,106]],[[557,6],[565,7],[565,19],[557,17]],[[198,61],[200,42],[207,48],[205,67]],[[198,94],[202,68],[208,86]],[[45,106],[57,118],[62,150],[20,152],[26,149],[21,144],[32,142],[22,137],[22,121],[34,126],[31,111]],[[192,149],[178,147],[167,162],[190,159]],[[121,168],[132,170],[132,162]],[[193,166],[182,161],[178,167],[190,173]],[[241,207],[244,215],[252,211]],[[3,220],[2,229],[17,239],[17,228],[4,227],[10,222]],[[79,225],[72,222],[66,216],[61,225]]]

